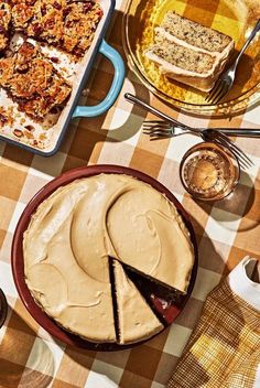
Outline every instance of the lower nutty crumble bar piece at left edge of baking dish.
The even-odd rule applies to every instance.
[[[0,86],[34,119],[43,119],[54,107],[65,105],[72,87],[37,46],[24,42],[11,57],[0,60]]]

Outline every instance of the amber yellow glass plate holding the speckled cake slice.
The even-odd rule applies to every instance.
[[[260,36],[256,36],[237,69],[224,103],[209,105],[206,94],[160,74],[143,53],[153,43],[154,28],[169,10],[230,35],[240,51],[260,19],[260,0],[129,0],[123,43],[130,67],[159,97],[176,108],[201,115],[234,115],[260,100]]]

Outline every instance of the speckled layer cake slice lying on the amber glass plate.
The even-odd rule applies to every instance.
[[[234,50],[234,40],[216,30],[167,12],[144,53],[167,77],[209,91]]]

